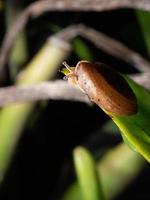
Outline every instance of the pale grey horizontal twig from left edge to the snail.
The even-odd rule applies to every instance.
[[[10,86],[0,89],[0,106],[44,99],[80,101],[91,104],[83,92],[72,87],[66,81],[51,81],[29,86]]]

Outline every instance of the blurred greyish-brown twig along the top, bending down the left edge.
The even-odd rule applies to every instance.
[[[4,74],[7,55],[17,34],[25,27],[29,17],[38,17],[46,11],[106,11],[118,8],[150,10],[149,0],[43,0],[30,4],[6,33],[0,51],[0,74]]]

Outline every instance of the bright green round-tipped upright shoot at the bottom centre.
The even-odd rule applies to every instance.
[[[104,199],[96,163],[91,153],[83,147],[77,147],[74,150],[74,165],[83,200]]]

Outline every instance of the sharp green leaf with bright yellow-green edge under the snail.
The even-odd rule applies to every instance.
[[[112,116],[130,146],[150,162],[150,92],[126,76],[137,102],[138,112],[132,116]],[[112,115],[112,114],[111,114]]]

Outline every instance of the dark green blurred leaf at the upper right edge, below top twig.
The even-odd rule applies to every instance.
[[[143,33],[145,44],[150,55],[150,12],[136,11],[137,18]]]

